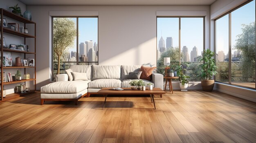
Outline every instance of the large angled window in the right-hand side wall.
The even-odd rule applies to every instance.
[[[216,81],[256,88],[255,0],[230,11],[215,23],[219,73]]]

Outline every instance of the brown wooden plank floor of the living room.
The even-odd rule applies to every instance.
[[[155,96],[157,97],[157,95]],[[45,101],[40,92],[0,103],[4,143],[256,143],[256,103],[192,90],[155,98]]]

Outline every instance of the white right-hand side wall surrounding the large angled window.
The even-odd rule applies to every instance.
[[[217,0],[211,4],[211,49],[214,50],[214,19],[238,7],[247,0]],[[256,90],[215,83],[214,90],[256,102]]]

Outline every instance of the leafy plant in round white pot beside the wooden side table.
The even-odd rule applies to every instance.
[[[189,87],[189,80],[188,78],[190,78],[189,76],[185,75],[185,71],[186,69],[184,67],[188,67],[189,66],[189,62],[181,62],[181,65],[176,66],[176,71],[177,71],[177,76],[180,78],[180,89],[181,90],[187,90],[187,88]]]

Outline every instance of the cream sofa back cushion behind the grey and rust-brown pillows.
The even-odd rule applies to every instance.
[[[144,65],[147,67],[150,67],[150,65]],[[128,66],[128,65],[121,65],[121,80],[129,79],[128,75],[130,72],[138,72],[141,65],[135,65],[135,66]]]

